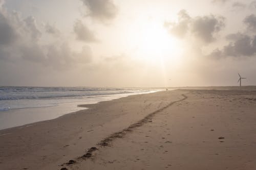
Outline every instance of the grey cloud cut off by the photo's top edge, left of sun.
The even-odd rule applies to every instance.
[[[89,15],[101,21],[113,19],[117,14],[117,7],[111,0],[81,0],[89,9]]]

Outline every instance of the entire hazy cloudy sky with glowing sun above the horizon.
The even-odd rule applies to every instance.
[[[256,85],[253,0],[0,0],[0,86]]]

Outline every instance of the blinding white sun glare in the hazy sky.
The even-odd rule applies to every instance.
[[[181,54],[179,41],[168,34],[162,23],[154,20],[136,23],[132,43],[136,45],[137,57],[155,61],[177,59]]]

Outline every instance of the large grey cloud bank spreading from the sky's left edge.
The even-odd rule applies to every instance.
[[[45,27],[49,34],[58,34],[58,30],[49,24]],[[22,19],[16,12],[7,13],[0,8],[0,62],[30,67],[38,64],[53,69],[69,69],[77,63],[87,64],[92,60],[92,51],[84,46],[80,52],[72,51],[69,43],[41,41],[42,32],[36,19],[29,16]],[[33,64],[31,64],[33,63]]]

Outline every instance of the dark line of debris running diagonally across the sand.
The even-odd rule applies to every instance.
[[[165,107],[162,107],[148,115],[146,115],[143,119],[139,120],[137,123],[134,123],[132,125],[130,125],[128,128],[125,128],[123,129],[122,131],[119,131],[119,132],[115,132],[113,134],[111,134],[110,136],[106,137],[105,139],[101,140],[98,145],[100,145],[101,147],[106,147],[106,146],[110,146],[110,143],[116,139],[116,138],[122,138],[125,134],[129,133],[129,132],[132,132],[133,129],[137,128],[137,127],[141,127],[142,125],[148,123],[148,122],[152,122],[152,118],[154,115],[156,115],[157,113],[163,111],[164,109],[167,109],[168,107],[174,105],[175,103],[178,103],[178,102],[181,102],[181,101],[184,101],[187,99],[187,96],[185,94],[181,94],[184,98],[181,99],[181,100],[178,100],[178,101],[174,101],[174,102],[171,102],[169,103],[168,105],[166,105]],[[78,159],[83,159],[83,160],[86,160],[88,158],[91,158],[92,157],[92,153],[94,151],[98,150],[96,147],[92,147],[90,148],[86,154],[84,154],[83,156],[79,157]],[[70,160],[68,163],[64,163],[62,164],[61,166],[63,165],[70,165],[70,164],[74,164],[74,163],[77,163],[76,161],[74,160]],[[67,169],[66,167],[64,168],[61,168],[61,169]]]

